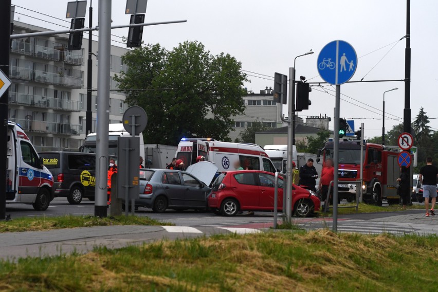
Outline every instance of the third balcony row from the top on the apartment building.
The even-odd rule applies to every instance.
[[[58,111],[80,112],[79,101],[24,93],[9,92],[9,103],[40,108],[43,107]]]

